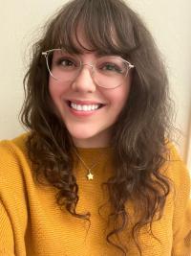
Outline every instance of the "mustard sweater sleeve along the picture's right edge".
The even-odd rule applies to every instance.
[[[172,148],[171,171],[175,183],[172,256],[191,255],[190,175]]]

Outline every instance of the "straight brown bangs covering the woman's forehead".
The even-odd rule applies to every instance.
[[[63,48],[74,54],[85,50],[129,56],[137,45],[127,6],[123,9],[121,4],[124,5],[108,0],[70,2],[52,23],[49,49]],[[80,38],[85,39],[86,45]]]

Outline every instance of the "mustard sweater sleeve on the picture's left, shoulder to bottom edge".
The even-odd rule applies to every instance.
[[[21,165],[19,150],[11,142],[0,142],[0,256],[26,255],[27,205]]]

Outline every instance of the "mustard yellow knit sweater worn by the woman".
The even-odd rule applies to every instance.
[[[80,155],[93,169],[94,179],[87,180],[82,165],[75,169],[79,185],[77,211],[91,212],[88,221],[72,217],[55,203],[53,187],[34,182],[32,165],[25,148],[26,135],[0,143],[0,255],[5,256],[119,256],[120,251],[106,243],[109,205],[107,193],[100,187],[112,174],[108,160],[110,149],[79,149]],[[191,255],[190,179],[177,152],[172,148],[167,174],[175,183],[176,195],[168,196],[162,219],[153,223],[153,232],[160,244],[144,228],[140,233],[143,256]],[[100,159],[98,159],[102,155]],[[131,207],[131,206],[129,206]],[[89,229],[88,229],[89,228]],[[139,255],[128,230],[122,239],[127,243],[128,256]]]

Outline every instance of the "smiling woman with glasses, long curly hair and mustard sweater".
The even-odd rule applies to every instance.
[[[24,80],[29,132],[0,144],[1,255],[190,255],[190,180],[138,14],[74,0]]]

